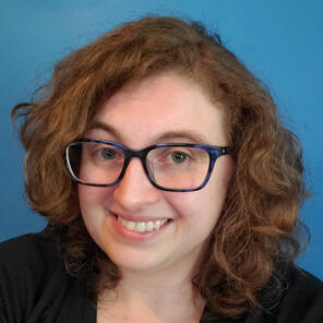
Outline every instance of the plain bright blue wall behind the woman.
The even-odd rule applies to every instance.
[[[301,139],[313,196],[301,210],[311,244],[299,264],[323,278],[323,2],[320,0],[11,0],[0,3],[0,240],[45,220],[24,203],[24,152],[10,110],[31,98],[56,62],[121,22],[146,14],[192,17],[271,88],[285,124]]]

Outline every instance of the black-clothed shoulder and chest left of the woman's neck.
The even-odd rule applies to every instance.
[[[95,322],[91,276],[64,266],[52,230],[0,243],[0,322]]]

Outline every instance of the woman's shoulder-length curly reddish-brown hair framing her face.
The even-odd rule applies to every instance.
[[[192,283],[214,313],[235,318],[282,289],[275,264],[300,251],[307,192],[300,143],[280,124],[268,91],[201,24],[163,16],[127,23],[68,55],[41,95],[14,107],[13,120],[23,118],[28,203],[47,218],[69,273],[95,273],[96,297],[113,289],[120,274],[85,228],[64,149],[127,82],[167,71],[199,84],[225,110],[236,170]]]

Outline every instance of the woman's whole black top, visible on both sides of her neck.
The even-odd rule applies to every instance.
[[[89,280],[67,273],[46,231],[1,242],[0,323],[95,323]],[[288,286],[280,306],[271,313],[251,312],[235,321],[210,318],[205,310],[201,322],[323,323],[323,283],[291,267]]]

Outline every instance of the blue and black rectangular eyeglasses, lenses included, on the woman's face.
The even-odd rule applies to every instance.
[[[227,146],[159,144],[134,151],[110,141],[81,139],[67,147],[65,162],[76,182],[112,187],[122,180],[131,158],[137,157],[154,187],[192,192],[206,186],[216,159],[227,154]]]

